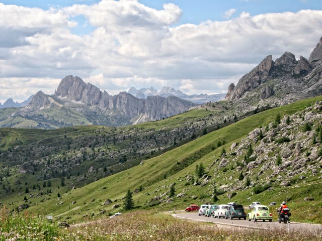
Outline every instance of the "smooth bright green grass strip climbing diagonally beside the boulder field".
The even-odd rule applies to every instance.
[[[145,190],[143,192],[134,194],[135,205],[144,206],[144,203],[146,201],[148,201],[155,195],[159,195],[160,192],[165,192],[169,189],[168,188],[167,190],[155,192],[156,188],[160,188],[163,185],[169,186],[169,184],[173,182],[177,182],[176,188],[177,193],[179,193],[185,187],[184,182],[178,183],[178,179],[184,177],[189,173],[193,174],[196,163],[203,162],[204,166],[208,166],[208,164],[219,157],[221,148],[218,148],[214,151],[209,151],[208,153],[205,152],[202,158],[199,159],[198,156],[199,160],[197,160],[194,165],[189,165],[183,170],[180,170],[174,175],[168,177],[169,179],[162,180],[164,174],[172,173],[171,170],[174,170],[174,167],[176,167],[176,165],[181,165],[181,163],[185,159],[192,157],[193,155],[197,155],[200,151],[204,152],[204,150],[207,149],[208,146],[215,145],[218,140],[225,140],[225,148],[227,150],[232,142],[238,142],[253,129],[260,126],[265,126],[272,122],[277,113],[280,113],[282,116],[284,114],[293,114],[296,111],[302,110],[305,107],[311,105],[317,100],[322,100],[322,97],[314,97],[298,101],[290,105],[270,109],[250,116],[235,124],[209,133],[197,140],[171,150],[163,155],[147,160],[143,165],[139,165],[129,170],[101,179],[83,188],[67,192],[61,199],[64,202],[63,205],[56,205],[61,200],[57,200],[57,194],[53,193],[50,200],[30,207],[30,211],[39,212],[42,214],[51,213],[55,216],[62,216],[62,218],[72,216],[72,219],[75,220],[82,218],[82,215],[85,213],[93,212],[97,214],[99,212],[99,209],[101,208],[108,210],[111,209],[112,205],[104,206],[104,201],[107,198],[112,199],[113,201],[115,199],[118,199],[118,201],[115,203],[122,203],[122,200],[120,199],[125,195],[125,192],[128,189],[134,190],[135,188],[138,188],[139,185],[143,185]],[[149,123],[148,125],[151,124]],[[178,162],[180,164],[178,164]],[[106,187],[106,189],[103,189],[104,187]],[[207,195],[209,196],[212,193],[212,190],[210,190],[209,188],[209,185],[203,188],[201,188],[200,186],[193,186],[190,188],[189,194],[195,194],[198,196],[200,196],[200,194],[204,194],[205,198],[207,198]],[[298,190],[300,189],[301,188],[299,188]],[[145,195],[144,193],[146,192],[151,194]],[[243,204],[248,204],[249,201],[245,199],[245,197],[248,196],[248,193],[245,193],[245,197],[241,195],[242,194],[238,194],[235,199]],[[258,195],[260,201],[265,199],[265,196],[263,195],[264,193]],[[219,198],[220,201],[223,202],[227,200],[225,196],[219,196]],[[160,206],[160,208],[165,209],[166,207],[172,206],[182,208],[188,204],[188,202],[185,202],[183,199],[177,199],[172,204],[162,204],[163,206]],[[193,201],[191,197],[187,197],[186,200],[189,202]],[[76,201],[77,203],[70,205],[71,201]],[[195,200],[193,202],[200,201],[202,200]],[[268,202],[268,199],[266,201]],[[61,215],[62,213],[64,214]]]

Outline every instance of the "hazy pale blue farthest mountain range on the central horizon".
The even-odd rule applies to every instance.
[[[175,90],[173,87],[163,87],[160,91],[157,91],[154,87],[150,88],[141,88],[141,89],[136,89],[135,87],[131,87],[128,91],[129,94],[132,94],[133,96],[140,98],[140,99],[145,99],[148,96],[155,96],[159,95],[162,97],[169,97],[169,96],[177,96],[181,99],[185,99],[191,102],[194,102],[196,104],[204,104],[207,102],[217,102],[225,97],[224,94],[193,94],[193,95],[188,95],[183,93],[180,90]]]

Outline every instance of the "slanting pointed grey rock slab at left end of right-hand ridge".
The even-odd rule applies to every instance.
[[[268,78],[272,64],[272,55],[269,55],[251,72],[241,77],[235,88],[231,91],[230,95],[228,95],[225,99],[237,100],[243,96],[245,92],[251,91],[258,87],[262,81]]]

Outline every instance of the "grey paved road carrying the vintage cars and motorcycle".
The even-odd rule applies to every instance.
[[[238,227],[250,227],[250,228],[261,228],[261,229],[263,229],[263,228],[266,228],[266,229],[285,228],[286,230],[288,230],[288,228],[290,228],[290,230],[300,230],[301,229],[301,230],[322,232],[322,225],[319,225],[319,224],[291,222],[288,225],[288,224],[284,224],[284,223],[278,223],[277,221],[263,222],[262,220],[259,220],[257,222],[254,222],[254,221],[248,221],[248,219],[246,219],[246,220],[238,220],[238,219],[230,220],[229,218],[225,219],[225,218],[213,218],[213,217],[210,219],[210,217],[199,216],[197,212],[178,213],[178,214],[173,214],[173,216],[179,217],[179,218],[184,218],[184,219],[196,220],[196,221],[210,222],[210,220],[212,220],[213,223],[238,226]]]

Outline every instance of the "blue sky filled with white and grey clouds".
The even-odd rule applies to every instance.
[[[308,58],[321,0],[0,0],[0,102],[66,75],[110,94],[225,93],[267,55]]]

